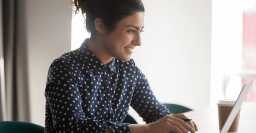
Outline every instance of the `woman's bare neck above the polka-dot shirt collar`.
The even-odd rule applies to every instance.
[[[104,50],[100,39],[91,39],[87,42],[87,47],[93,52],[93,54],[102,61],[103,64],[109,65],[113,60],[113,56],[109,55],[107,51]]]

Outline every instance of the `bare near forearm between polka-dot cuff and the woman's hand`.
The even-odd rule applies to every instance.
[[[131,133],[150,133],[146,124],[130,124]],[[112,130],[107,130],[105,133],[112,133]]]

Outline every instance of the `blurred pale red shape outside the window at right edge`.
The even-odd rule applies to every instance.
[[[256,71],[256,12],[243,14],[243,64],[244,70]],[[242,87],[253,78],[242,78]],[[254,79],[254,82],[256,80]],[[253,83],[245,101],[256,102],[256,83]]]

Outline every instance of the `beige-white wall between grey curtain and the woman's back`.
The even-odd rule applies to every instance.
[[[44,89],[50,64],[71,50],[69,0],[25,0],[32,123],[44,127]]]

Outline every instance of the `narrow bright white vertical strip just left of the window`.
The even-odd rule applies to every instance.
[[[224,98],[226,0],[212,1],[212,55],[210,104]]]

